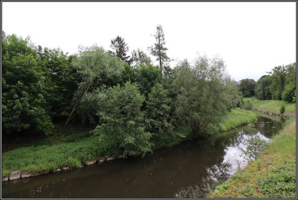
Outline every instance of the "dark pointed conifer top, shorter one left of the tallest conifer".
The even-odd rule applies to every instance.
[[[126,62],[128,64],[131,63],[131,60],[129,59],[130,56],[129,55],[127,56],[129,47],[127,43],[125,43],[124,38],[122,38],[121,36],[117,36],[116,38],[113,38],[111,40],[110,47],[114,49],[116,56],[120,58],[122,62]]]

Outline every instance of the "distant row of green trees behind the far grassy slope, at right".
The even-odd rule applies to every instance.
[[[286,66],[276,66],[268,75],[239,81],[239,89],[244,97],[255,95],[259,100],[284,100],[296,102],[296,62]]]

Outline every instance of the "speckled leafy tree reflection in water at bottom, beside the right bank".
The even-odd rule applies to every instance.
[[[207,175],[202,177],[194,187],[181,188],[175,198],[204,198],[214,183],[226,181],[230,177],[231,164],[224,162],[206,168]]]

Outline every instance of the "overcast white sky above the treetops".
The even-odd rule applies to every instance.
[[[2,2],[6,34],[69,53],[117,35],[147,52],[158,24],[171,58],[218,54],[236,81],[296,62],[296,2]]]

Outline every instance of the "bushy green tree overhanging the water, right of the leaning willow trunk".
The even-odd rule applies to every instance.
[[[145,97],[140,94],[136,83],[126,82],[108,88],[99,99],[101,109],[97,110],[101,124],[94,130],[100,141],[109,148],[123,148],[123,156],[145,155],[151,150],[151,133],[146,132],[144,112],[140,110]]]

